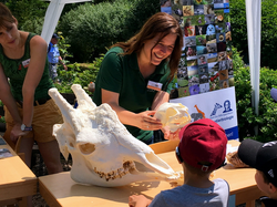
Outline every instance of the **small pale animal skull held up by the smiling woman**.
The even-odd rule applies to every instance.
[[[156,111],[154,117],[158,118],[163,126],[171,132],[176,132],[186,124],[191,123],[188,108],[181,103],[163,103]]]

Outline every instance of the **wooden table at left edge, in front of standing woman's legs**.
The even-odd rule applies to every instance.
[[[0,145],[0,148],[8,148],[13,155],[0,158],[0,206],[37,194],[38,179],[31,169],[9,145]]]

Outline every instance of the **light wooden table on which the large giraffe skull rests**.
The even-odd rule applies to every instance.
[[[182,170],[174,152],[158,156],[174,170]],[[261,196],[254,175],[253,168],[238,169],[228,164],[216,170],[214,177],[224,178],[229,183],[230,195],[236,195],[236,205],[247,203],[247,206],[253,207],[255,199]],[[39,184],[41,195],[51,207],[121,207],[127,206],[129,196],[133,194],[143,194],[152,199],[161,190],[172,188],[166,182],[142,182],[114,188],[84,186],[73,182],[69,172],[39,177]]]

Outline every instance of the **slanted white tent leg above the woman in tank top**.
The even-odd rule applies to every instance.
[[[53,33],[54,29],[58,24],[60,15],[62,13],[63,7],[65,3],[78,3],[83,1],[91,1],[91,0],[50,0],[50,4],[48,7],[43,28],[41,32],[41,37],[49,43]]]

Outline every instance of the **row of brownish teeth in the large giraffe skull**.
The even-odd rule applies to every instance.
[[[94,167],[94,172],[101,177],[104,178],[106,182],[110,179],[122,178],[124,175],[130,174],[131,170],[135,168],[135,164],[132,161],[127,161],[123,164],[123,167],[112,170],[109,173],[99,172],[96,167]]]

